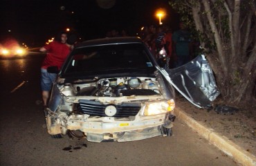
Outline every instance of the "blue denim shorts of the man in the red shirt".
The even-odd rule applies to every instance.
[[[41,68],[41,89],[42,91],[51,91],[53,82],[57,74],[48,73],[45,68]]]

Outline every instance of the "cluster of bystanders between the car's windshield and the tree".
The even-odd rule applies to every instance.
[[[169,26],[144,26],[139,36],[156,59],[161,58],[161,51],[165,53],[165,68],[176,68],[192,59],[191,34],[182,23],[174,33]]]

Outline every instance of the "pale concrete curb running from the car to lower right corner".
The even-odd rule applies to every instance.
[[[214,132],[213,129],[205,127],[200,122],[191,118],[188,113],[185,113],[181,108],[175,108],[176,117],[183,120],[185,124],[198,132],[200,136],[208,140],[212,145],[218,147],[228,156],[234,158],[241,165],[255,166],[256,157],[248,151],[236,145],[234,142],[228,140],[225,136],[220,136],[219,133]]]

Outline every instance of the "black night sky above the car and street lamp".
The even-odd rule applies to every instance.
[[[144,25],[158,24],[158,8],[167,12],[163,24],[175,29],[178,17],[167,0],[116,0],[111,8],[101,8],[96,0],[2,0],[0,38],[37,46],[66,28],[82,39],[104,37],[112,29],[136,35]]]

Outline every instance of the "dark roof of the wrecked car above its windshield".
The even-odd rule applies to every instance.
[[[76,48],[86,46],[100,46],[109,44],[129,44],[129,43],[143,43],[139,37],[106,37],[102,39],[92,39],[77,44]]]

